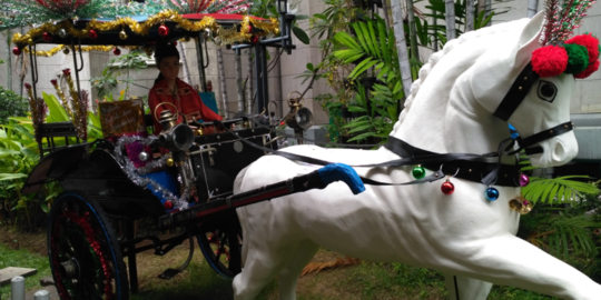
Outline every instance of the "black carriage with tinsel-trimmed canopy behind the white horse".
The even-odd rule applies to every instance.
[[[38,99],[36,57],[48,51],[36,51],[36,44],[56,43],[63,44],[59,49],[70,49],[76,84],[69,71],[65,76],[70,81],[71,96],[78,97],[81,96],[81,52],[86,47],[144,48],[149,52],[157,42],[175,43],[191,38],[196,39],[198,57],[203,58],[201,40],[208,33],[220,42],[235,42],[238,49],[256,49],[257,89],[262,91],[257,109],[263,110],[267,102],[267,77],[262,73],[266,69],[260,68],[266,66],[266,47],[294,49],[293,20],[294,16],[286,13],[282,13],[278,24],[277,19],[240,14],[179,16],[174,11],[151,17],[69,20],[42,24],[26,36],[18,36],[14,51],[29,52],[32,84],[28,89],[30,97]],[[263,38],[278,32],[282,34],[269,40]],[[198,62],[203,87],[206,84],[204,64]],[[101,120],[107,122],[102,123],[105,139],[86,141],[86,129],[82,134],[78,129],[81,123],[76,119],[36,124],[41,160],[22,189],[23,193],[35,192],[50,181],[60,181],[65,189],[53,201],[48,218],[48,254],[61,299],[128,299],[129,292],[138,291],[137,253],[154,250],[155,254],[164,256],[189,240],[189,256],[184,264],[160,274],[171,278],[190,262],[195,239],[210,267],[220,276],[233,278],[242,270],[243,243],[235,208],[323,183],[314,173],[233,194],[237,173],[266,150],[277,149],[277,143],[270,142],[275,137],[273,126],[256,127],[252,118],[197,122],[200,127],[220,129],[203,134],[188,124],[178,124],[178,111],[167,107],[160,116],[155,116],[162,131],[147,134],[152,128],[152,116],[144,116],[141,101],[101,102],[99,106]],[[115,120],[121,123],[117,126]],[[231,124],[238,124],[237,129],[230,130]],[[134,129],[124,132],[116,130],[117,127]],[[56,147],[56,139],[62,138],[65,146]],[[253,143],[265,148],[250,147]],[[321,183],[315,186],[316,182]],[[135,221],[142,218],[152,220],[155,231],[176,230],[178,234],[168,239],[154,234],[136,237]],[[128,269],[124,258],[128,259]]]

